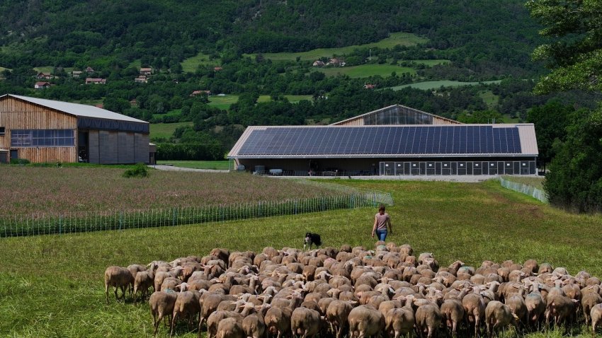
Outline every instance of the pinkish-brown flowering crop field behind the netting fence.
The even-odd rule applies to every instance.
[[[33,168],[3,165],[3,215],[164,209],[182,206],[280,201],[338,192],[290,180],[244,173],[180,173],[152,170],[122,177],[122,168]]]

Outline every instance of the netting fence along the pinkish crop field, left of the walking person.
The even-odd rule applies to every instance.
[[[333,197],[259,201],[217,206],[168,209],[78,211],[64,214],[0,216],[0,237],[84,233],[158,226],[224,222],[246,218],[296,215],[334,209],[393,205],[391,194],[361,192]]]

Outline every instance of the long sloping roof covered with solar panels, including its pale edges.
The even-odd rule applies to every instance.
[[[538,156],[533,124],[252,126],[229,158]]]

